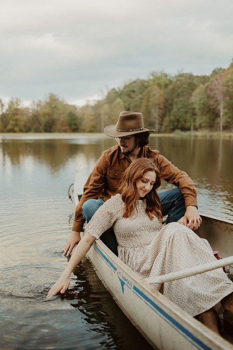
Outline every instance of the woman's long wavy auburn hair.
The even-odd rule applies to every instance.
[[[143,198],[146,200],[146,213],[150,220],[154,216],[162,220],[160,199],[156,191],[161,184],[160,173],[157,166],[148,158],[135,159],[122,175],[119,193],[125,205],[123,217],[131,217],[138,200],[136,181],[149,171],[155,172],[156,180],[151,191]]]

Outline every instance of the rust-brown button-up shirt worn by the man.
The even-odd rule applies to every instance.
[[[176,168],[163,157],[159,151],[151,150],[149,146],[141,148],[139,157],[151,159],[159,168],[161,178],[176,185],[183,193],[185,205],[197,206],[197,190],[191,178]],[[83,195],[78,203],[72,230],[81,232],[85,219],[82,216],[82,205],[88,199],[103,199],[106,201],[117,193],[122,174],[130,165],[130,161],[122,154],[118,145],[104,151],[96,163],[84,185]]]

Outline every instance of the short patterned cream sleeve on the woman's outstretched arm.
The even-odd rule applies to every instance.
[[[116,196],[108,199],[93,215],[91,220],[85,226],[85,231],[90,235],[100,238],[101,234],[112,227],[119,215],[119,209],[122,208],[121,196]],[[123,205],[124,207],[124,205]]]

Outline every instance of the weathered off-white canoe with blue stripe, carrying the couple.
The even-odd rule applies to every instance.
[[[75,184],[74,200],[77,204]],[[207,215],[201,217],[198,235],[218,249],[221,258],[231,256],[233,222]],[[161,350],[233,350],[229,341],[181,310],[148,281],[139,278],[100,240],[94,242],[87,257],[113,299],[152,347]]]

